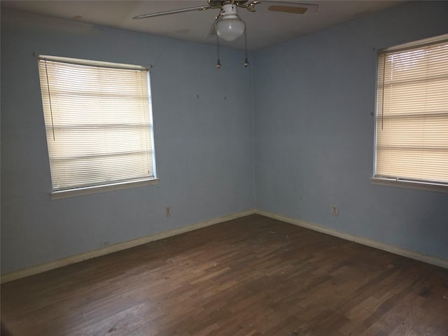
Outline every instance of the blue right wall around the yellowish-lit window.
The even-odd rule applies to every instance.
[[[448,258],[447,193],[369,181],[376,50],[446,33],[447,1],[411,2],[257,52],[256,207]]]

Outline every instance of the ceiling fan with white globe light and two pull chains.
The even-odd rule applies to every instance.
[[[234,41],[244,35],[244,45],[246,51],[246,61],[244,66],[248,66],[247,47],[246,47],[246,23],[242,21],[238,14],[238,8],[246,8],[249,12],[255,12],[260,3],[267,3],[267,10],[282,13],[304,14],[309,8],[317,10],[318,5],[309,3],[298,3],[294,1],[265,1],[265,0],[207,0],[207,5],[196,6],[190,8],[180,8],[175,10],[167,10],[158,13],[148,13],[134,16],[133,19],[154,18],[162,15],[171,15],[178,13],[191,12],[195,10],[219,9],[220,13],[214,19],[209,35],[216,34],[216,43],[218,48],[218,64],[216,67],[221,68],[219,60],[219,42],[218,38],[226,41]]]

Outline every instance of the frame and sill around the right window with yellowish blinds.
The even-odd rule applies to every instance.
[[[448,181],[447,183],[439,181],[425,181],[419,179],[411,179],[405,177],[392,177],[377,174],[377,139],[378,139],[378,120],[379,120],[379,80],[380,80],[380,56],[389,52],[399,52],[404,50],[416,50],[418,48],[423,48],[428,45],[434,45],[437,43],[447,43],[448,34],[441,36],[435,36],[433,38],[426,38],[424,40],[414,41],[411,43],[405,43],[402,45],[395,45],[391,48],[386,48],[384,50],[379,50],[377,54],[377,76],[376,76],[376,94],[375,94],[375,113],[374,113],[374,162],[373,162],[373,174],[370,177],[370,182],[374,185],[379,186],[393,186],[399,188],[411,188],[417,190],[429,190],[441,193],[448,193]],[[384,98],[383,98],[384,99]]]

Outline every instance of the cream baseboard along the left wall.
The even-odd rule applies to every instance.
[[[248,210],[248,211],[242,211],[242,212],[239,212],[236,214],[229,214],[226,216],[209,219],[207,221],[202,221],[199,223],[186,225],[186,226],[183,226],[182,228],[164,231],[164,232],[156,233],[155,235],[149,235],[146,237],[132,239],[130,241],[123,241],[122,243],[113,244],[113,245],[105,246],[102,248],[97,248],[92,251],[87,251],[84,253],[71,255],[66,258],[57,259],[57,260],[50,261],[50,262],[45,262],[40,265],[35,265],[35,266],[27,267],[24,269],[18,269],[17,271],[9,272],[6,274],[1,274],[1,283],[6,283],[6,282],[17,280],[17,279],[22,279],[22,278],[25,278],[26,276],[49,271],[50,269],[56,269],[59,267],[71,265],[71,264],[74,264],[75,262],[80,262],[83,260],[96,258],[101,255],[106,255],[109,253],[125,250],[127,248],[146,244],[151,241],[165,239],[167,237],[173,237],[176,235],[180,235],[181,233],[184,233],[184,232],[193,231],[193,230],[197,230],[200,228],[205,228],[210,225],[223,223],[225,221],[231,221],[232,219],[248,216],[251,214],[255,214],[255,210]]]

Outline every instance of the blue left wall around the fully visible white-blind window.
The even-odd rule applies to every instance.
[[[33,52],[153,64],[158,186],[50,200]],[[211,46],[2,8],[2,273],[253,209],[252,69],[243,61],[223,49],[218,71]]]

